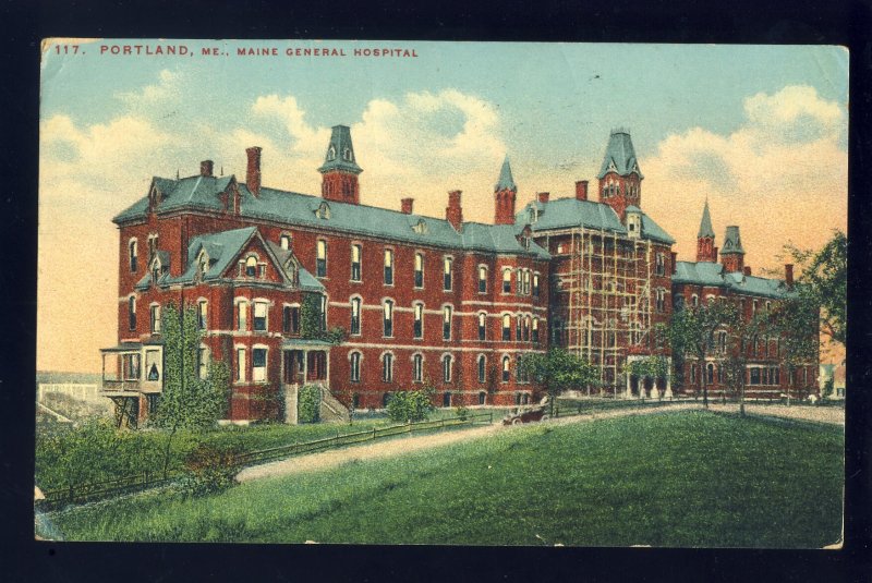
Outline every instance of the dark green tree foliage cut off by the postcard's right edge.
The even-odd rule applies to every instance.
[[[797,303],[801,312],[820,308],[820,330],[831,341],[845,345],[848,295],[848,238],[833,231],[833,238],[820,250],[786,245],[785,250],[801,269],[797,279]]]

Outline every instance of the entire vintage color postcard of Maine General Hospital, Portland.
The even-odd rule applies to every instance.
[[[38,538],[840,547],[845,48],[41,50]]]

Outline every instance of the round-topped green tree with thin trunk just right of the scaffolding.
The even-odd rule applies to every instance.
[[[682,306],[673,312],[669,325],[663,330],[673,351],[695,356],[699,366],[697,393],[702,393],[703,406],[708,408],[705,382],[706,356],[715,353],[715,331],[729,329],[739,323],[739,312],[731,302],[712,301],[699,306]]]

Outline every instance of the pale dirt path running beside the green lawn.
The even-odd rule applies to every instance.
[[[668,406],[656,406],[645,409],[622,409],[618,411],[596,412],[590,415],[574,415],[571,417],[561,417],[550,420],[544,423],[550,425],[566,425],[569,423],[586,423],[596,420],[622,417],[630,415],[649,415],[652,413],[664,413],[667,411],[682,411],[688,409],[700,409],[702,405],[698,403],[681,403],[671,404]],[[429,435],[412,436],[404,438],[390,439],[386,441],[376,441],[362,446],[352,446],[343,449],[331,451],[323,451],[318,453],[311,453],[307,456],[296,456],[286,460],[269,462],[262,465],[254,465],[246,467],[237,476],[239,482],[249,482],[252,479],[259,479],[263,477],[283,476],[289,474],[298,474],[303,472],[314,472],[317,470],[325,470],[336,467],[340,464],[350,462],[352,460],[374,460],[380,458],[389,458],[424,449],[432,449],[458,441],[471,441],[481,439],[496,432],[514,430],[521,426],[504,426],[500,421],[496,421],[494,425],[485,427],[474,427],[470,429],[455,429],[451,432],[436,433]]]

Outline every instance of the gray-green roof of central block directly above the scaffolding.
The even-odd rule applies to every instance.
[[[530,220],[530,209],[533,207],[538,211],[535,222]],[[638,210],[642,212],[642,239],[650,239],[667,245],[675,243],[675,239],[654,222],[654,219],[641,209]],[[593,201],[579,201],[573,197],[553,198],[547,203],[533,201],[516,216],[516,223],[530,222],[533,231],[585,227],[627,234],[627,229],[621,224],[618,214],[610,206]]]

